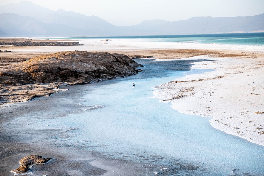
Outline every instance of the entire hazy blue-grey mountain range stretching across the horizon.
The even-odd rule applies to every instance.
[[[246,17],[193,17],[188,20],[147,20],[116,26],[97,16],[57,10],[30,1],[0,6],[0,37],[134,36],[248,33],[264,31],[264,14]]]

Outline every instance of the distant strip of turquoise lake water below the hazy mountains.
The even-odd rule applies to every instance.
[[[197,42],[238,45],[264,45],[264,33],[68,37],[68,39],[139,39],[143,42]]]

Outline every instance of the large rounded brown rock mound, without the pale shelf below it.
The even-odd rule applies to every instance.
[[[0,84],[86,84],[138,74],[142,65],[123,54],[65,51],[0,68]]]

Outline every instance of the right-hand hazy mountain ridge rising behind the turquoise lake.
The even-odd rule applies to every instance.
[[[155,35],[251,32],[264,30],[264,14],[247,17],[193,17],[174,22],[150,20],[134,25],[133,28],[146,31],[155,28]]]

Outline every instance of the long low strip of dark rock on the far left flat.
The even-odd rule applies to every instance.
[[[79,42],[1,42],[0,45],[12,45],[15,47],[37,47],[37,46],[79,46]]]

